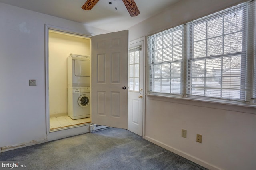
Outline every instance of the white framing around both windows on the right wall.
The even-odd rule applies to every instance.
[[[254,3],[252,4],[253,5],[253,14],[255,15],[255,2],[245,2],[245,3],[242,3],[238,6],[236,6],[235,8],[239,7],[240,6],[240,9],[242,8],[243,9],[243,15],[248,15],[248,11],[247,10],[251,10],[251,9],[248,9],[248,5],[250,5],[251,3]],[[242,7],[241,7],[242,6]],[[234,8],[234,7],[231,7],[231,8]],[[220,12],[216,12],[214,14],[211,14],[211,15],[208,15],[206,17],[202,17],[202,18],[199,18],[198,19],[198,22],[205,22],[205,20],[209,20],[209,18],[217,18],[216,15],[221,15],[221,13],[226,13],[228,14],[229,11],[231,8],[227,8],[226,10],[222,10]],[[244,9],[246,9],[246,13],[244,12]],[[222,16],[222,18],[224,18],[224,15]],[[255,44],[256,44],[256,36],[254,37],[254,40],[253,40],[253,47],[254,47],[254,51],[249,51],[248,52],[248,47],[247,47],[247,42],[249,41],[248,40],[248,35],[247,35],[247,32],[248,32],[248,25],[246,23],[246,26],[244,26],[244,22],[247,22],[248,18],[246,16],[246,21],[243,21],[243,24],[242,24],[242,51],[241,52],[236,52],[236,53],[232,53],[230,55],[230,53],[224,53],[224,48],[222,49],[222,54],[221,55],[214,55],[214,56],[210,56],[210,58],[221,58],[223,59],[224,57],[231,57],[231,56],[236,56],[236,55],[241,55],[241,63],[245,64],[245,68],[246,70],[245,71],[242,71],[241,69],[241,77],[244,77],[244,83],[243,84],[240,84],[240,87],[244,88],[250,88],[249,91],[241,91],[240,92],[240,96],[244,96],[244,98],[242,99],[230,99],[230,98],[220,98],[220,97],[211,97],[211,96],[201,96],[201,95],[192,95],[190,93],[190,90],[191,90],[191,73],[192,72],[189,72],[189,65],[191,64],[192,60],[191,60],[191,50],[193,47],[191,42],[193,41],[193,39],[191,38],[192,35],[190,34],[190,29],[191,29],[191,22],[188,22],[188,23],[185,23],[185,24],[182,24],[182,25],[179,25],[177,27],[183,27],[183,32],[184,32],[184,38],[183,38],[183,59],[182,59],[182,63],[181,63],[181,86],[180,86],[180,94],[174,94],[174,93],[161,93],[161,92],[154,92],[152,91],[152,88],[153,88],[153,85],[151,84],[150,85],[150,81],[152,80],[152,69],[150,69],[150,61],[147,62],[147,67],[148,67],[148,71],[147,71],[147,94],[148,95],[158,95],[158,96],[163,96],[163,97],[178,97],[178,98],[183,98],[183,99],[192,99],[192,100],[204,100],[204,101],[213,101],[213,102],[220,102],[220,103],[230,103],[230,104],[249,104],[249,105],[255,105],[256,103],[256,100],[254,99],[255,96],[256,96],[256,57],[255,57]],[[256,22],[254,21],[254,35],[255,35],[255,32],[256,32]],[[222,24],[224,25],[224,22],[222,22]],[[176,27],[174,27],[176,28]],[[173,28],[170,28],[170,29],[173,29]],[[224,29],[224,28],[223,28]],[[251,28],[249,28],[251,29]],[[164,31],[163,31],[164,32]],[[246,34],[244,35],[244,32],[246,32]],[[232,33],[227,33],[225,34],[225,32],[222,32],[222,34],[218,37],[222,37],[222,39],[224,39],[224,36],[225,35],[228,35],[228,34],[233,34],[234,32]],[[156,33],[158,34],[158,33]],[[155,35],[155,34],[152,34],[152,35]],[[150,36],[152,36],[150,35]],[[147,48],[149,48],[148,46],[148,38],[149,36],[147,36]],[[212,37],[214,38],[214,37]],[[206,38],[207,40],[209,39],[212,39],[212,38]],[[222,44],[224,44],[224,42],[222,42]],[[150,46],[152,48],[152,44]],[[244,49],[246,48],[246,49]],[[248,53],[254,53],[254,56],[249,56],[248,57]],[[244,55],[247,56],[245,57]],[[147,59],[148,60],[153,60],[154,57],[150,57],[150,52],[148,51],[147,49]],[[209,56],[208,56],[209,57]],[[204,61],[206,61],[206,59],[208,59],[207,55],[205,58],[198,58],[198,60],[200,59],[204,59]],[[253,59],[254,57],[254,59]],[[250,62],[252,64],[250,64]],[[156,63],[158,64],[158,63]],[[241,66],[242,68],[242,66]],[[251,71],[253,72],[253,75],[249,75],[251,77],[248,77],[248,72]],[[253,77],[252,77],[253,76]],[[206,79],[207,77],[203,77],[204,79]],[[242,78],[241,78],[242,79]],[[242,80],[241,80],[242,81]],[[249,84],[249,85],[247,85]],[[247,85],[247,86],[246,86]],[[223,84],[222,84],[223,86]],[[244,88],[244,89],[246,89]],[[255,89],[254,89],[255,88]],[[205,90],[205,89],[204,89]],[[254,97],[254,98],[253,98]]]

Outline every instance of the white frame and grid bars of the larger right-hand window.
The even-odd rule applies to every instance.
[[[200,18],[198,20],[196,20],[196,24],[194,24],[194,21],[192,22],[189,22],[188,23],[188,32],[189,32],[189,36],[188,36],[188,41],[189,41],[189,55],[188,55],[188,76],[187,76],[187,87],[186,87],[186,94],[187,95],[190,95],[190,96],[194,96],[195,94],[192,94],[192,79],[193,78],[197,78],[197,77],[193,77],[192,76],[192,64],[193,64],[193,61],[204,61],[204,68],[205,68],[205,71],[206,71],[206,60],[208,59],[220,59],[221,60],[221,73],[220,73],[220,76],[218,77],[209,77],[209,76],[206,76],[206,72],[204,72],[204,76],[203,77],[200,77],[201,79],[203,78],[204,80],[204,87],[201,88],[203,89],[204,91],[204,95],[199,95],[199,96],[202,96],[202,97],[209,97],[211,98],[210,95],[206,95],[206,91],[208,90],[208,88],[206,87],[207,84],[206,84],[206,79],[207,78],[220,78],[220,97],[214,97],[214,98],[220,98],[220,99],[227,99],[227,100],[234,100],[234,101],[246,101],[246,71],[242,68],[245,68],[246,67],[246,61],[247,61],[247,50],[246,50],[246,27],[247,27],[247,20],[246,19],[246,15],[247,15],[247,8],[246,8],[246,4],[240,4],[238,6],[235,7],[236,10],[242,10],[242,29],[241,30],[238,30],[238,31],[235,31],[235,32],[228,32],[228,33],[225,33],[225,16],[226,15],[230,15],[230,9],[226,9],[226,10],[223,10],[221,12],[216,12],[210,16],[206,16],[206,17],[203,17],[203,18]],[[217,18],[222,18],[222,33],[218,36],[211,36],[211,37],[208,37],[208,23],[211,22],[212,20],[214,19],[217,19]],[[201,40],[196,40],[194,41],[194,29],[193,29],[193,26],[195,25],[199,25],[199,24],[202,24],[202,23],[206,23],[206,37],[204,39],[201,39]],[[241,32],[242,33],[242,51],[240,52],[230,52],[230,53],[225,53],[225,36],[228,36],[228,35],[232,35],[232,34],[236,34],[236,33],[239,33]],[[214,38],[221,38],[222,39],[222,54],[217,54],[217,55],[208,55],[209,51],[208,51],[208,40],[212,40]],[[193,54],[193,51],[194,51],[194,43],[196,42],[201,42],[201,41],[204,41],[205,40],[205,47],[206,47],[206,56],[204,57],[194,57],[194,54]],[[240,68],[241,68],[241,71],[240,71],[240,99],[232,99],[232,98],[226,98],[226,97],[223,97],[223,91],[225,90],[225,88],[223,87],[224,84],[223,84],[223,79],[225,78],[225,76],[223,75],[224,73],[224,60],[223,58],[224,57],[235,57],[235,56],[238,56],[240,55],[241,57],[241,65],[240,65]],[[241,99],[242,98],[242,99]]]

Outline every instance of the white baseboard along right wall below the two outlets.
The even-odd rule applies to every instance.
[[[164,143],[162,143],[162,142],[160,142],[158,140],[155,140],[153,138],[150,138],[150,137],[148,137],[146,135],[144,137],[145,137],[145,140],[148,140],[148,141],[150,141],[150,142],[152,142],[152,143],[154,143],[154,144],[156,144],[158,146],[161,146],[162,148],[165,148],[165,149],[167,149],[167,150],[169,150],[169,151],[171,151],[171,152],[173,152],[173,153],[175,153],[175,154],[177,154],[179,156],[182,156],[183,158],[186,158],[186,159],[188,159],[188,160],[190,160],[192,162],[195,162],[196,164],[199,164],[199,165],[201,165],[201,166],[203,166],[203,167],[205,167],[205,168],[207,168],[209,170],[221,170],[221,168],[213,166],[213,165],[209,164],[208,162],[205,162],[204,160],[201,160],[201,159],[196,158],[196,157],[194,157],[194,156],[192,156],[190,154],[187,154],[186,152],[182,152],[181,150],[175,149],[175,148],[173,148],[171,146],[168,146],[167,144],[164,144]]]

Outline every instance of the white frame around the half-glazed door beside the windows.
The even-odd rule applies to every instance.
[[[142,91],[142,100],[143,100],[143,103],[142,103],[142,138],[144,138],[145,136],[145,106],[146,106],[146,98],[145,98],[145,94],[146,94],[146,37],[141,37],[141,38],[138,38],[136,40],[132,40],[128,43],[128,46],[132,45],[133,43],[138,43],[138,42],[141,42],[142,41],[142,45],[143,45],[143,91]],[[129,64],[129,63],[128,63]],[[129,81],[128,81],[129,82]],[[128,92],[129,93],[129,92]],[[129,100],[128,100],[129,101]],[[129,103],[128,103],[128,106],[129,106]],[[129,109],[129,108],[128,108]]]

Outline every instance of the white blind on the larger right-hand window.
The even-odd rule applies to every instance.
[[[250,101],[254,22],[244,3],[188,24],[188,95]]]

